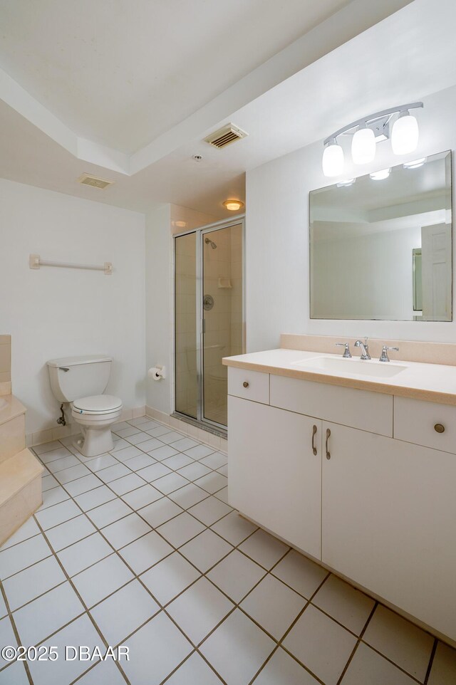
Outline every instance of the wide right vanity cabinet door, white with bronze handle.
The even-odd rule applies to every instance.
[[[323,563],[456,639],[455,456],[322,429]]]

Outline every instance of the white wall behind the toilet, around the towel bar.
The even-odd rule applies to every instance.
[[[11,377],[28,434],[56,428],[46,360],[113,357],[107,393],[145,404],[143,214],[0,179],[0,333],[12,335]],[[113,262],[113,275],[28,268],[28,255]]]

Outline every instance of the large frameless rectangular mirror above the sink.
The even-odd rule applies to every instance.
[[[311,318],[452,320],[451,152],[385,174],[310,193]]]

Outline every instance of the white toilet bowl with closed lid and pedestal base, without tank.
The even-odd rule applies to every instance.
[[[93,395],[75,399],[71,417],[81,426],[82,438],[74,446],[83,456],[97,456],[113,449],[111,426],[122,413],[122,401],[113,395]]]

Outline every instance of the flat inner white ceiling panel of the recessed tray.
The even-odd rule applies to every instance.
[[[77,135],[135,152],[351,0],[2,0],[0,67]]]

